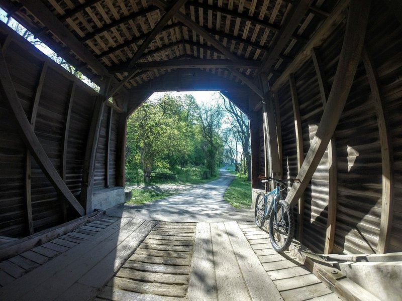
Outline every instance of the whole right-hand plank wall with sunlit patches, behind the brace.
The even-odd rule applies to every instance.
[[[315,49],[322,74],[318,75],[317,66],[310,58],[291,75],[294,76],[293,94],[297,94],[305,154],[323,113],[322,98],[325,93],[319,79],[322,78],[324,86],[331,89],[344,32],[345,24],[342,23],[320,48]],[[333,198],[337,204],[332,224],[335,226],[333,238],[329,238],[327,231],[330,189],[328,149],[304,194],[303,235],[300,239],[316,252],[382,253],[402,250],[401,37],[402,26],[386,4],[372,2],[365,42],[371,66],[360,61],[333,139],[337,168],[335,181],[338,181]],[[371,72],[370,78],[368,72]],[[377,82],[372,79],[376,75]],[[376,84],[379,92],[373,90]],[[274,91],[281,117],[283,177],[297,174],[297,121],[293,115],[290,91],[289,82]],[[379,108],[374,97],[382,101]],[[380,131],[387,137],[380,138]],[[387,141],[390,143],[391,159],[387,159],[388,147],[384,145]],[[388,175],[393,176],[388,179]],[[389,195],[390,198],[387,197]],[[297,212],[297,206],[294,212]]]

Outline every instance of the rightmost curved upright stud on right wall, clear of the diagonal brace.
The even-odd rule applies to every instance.
[[[380,90],[380,82],[373,60],[366,47],[363,47],[362,60],[366,69],[367,79],[371,89],[371,99],[377,115],[378,132],[381,146],[382,163],[382,203],[381,203],[381,222],[378,237],[377,253],[386,253],[389,245],[389,237],[392,228],[393,214],[393,165],[392,165],[392,145],[390,143],[389,125],[387,122],[386,109]]]

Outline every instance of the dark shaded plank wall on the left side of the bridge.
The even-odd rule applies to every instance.
[[[0,46],[36,136],[60,177],[80,200],[86,141],[97,93],[3,24]],[[69,203],[64,204],[64,198],[28,152],[7,100],[0,95],[0,235],[23,237],[78,217]],[[97,160],[103,156],[99,160],[104,173],[99,187],[107,186],[106,164],[108,186],[116,186],[118,125],[122,114],[114,110],[109,129],[112,110],[110,105],[106,106],[99,139],[99,144],[105,146],[99,147],[96,156]],[[108,129],[110,143],[106,141]]]

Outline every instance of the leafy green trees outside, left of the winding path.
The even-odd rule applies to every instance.
[[[200,108],[192,95],[173,97],[165,93],[155,101],[145,102],[127,121],[127,182],[139,182],[138,170],[143,175],[151,171],[172,173],[176,166],[180,167],[177,174],[182,174],[183,169],[191,172],[192,167],[197,173],[204,169],[201,175],[194,175],[197,180],[217,176],[216,167],[223,158],[219,135],[223,112],[220,108],[214,110]],[[190,178],[194,179],[192,175]],[[155,181],[161,183],[159,179]]]

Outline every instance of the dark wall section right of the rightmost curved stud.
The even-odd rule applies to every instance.
[[[402,250],[402,25],[381,3],[372,4],[371,14],[376,22],[369,22],[366,48],[378,73],[393,161],[393,207],[386,251],[396,252]]]

